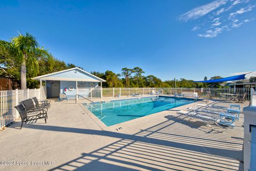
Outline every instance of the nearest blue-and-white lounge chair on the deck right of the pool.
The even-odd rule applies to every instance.
[[[211,125],[207,124],[207,122],[214,123],[215,125],[218,125],[220,127],[222,127],[221,125],[225,125],[228,127],[231,126],[232,128],[235,126],[234,117],[232,121],[227,121],[225,120],[226,115],[224,113],[220,116],[207,115],[199,112],[185,111],[185,110],[178,111],[177,113],[180,115],[186,115],[189,118],[201,119],[202,121],[204,121],[204,123],[206,123],[206,125],[210,126],[213,130],[215,129]]]

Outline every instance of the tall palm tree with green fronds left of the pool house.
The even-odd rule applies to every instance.
[[[33,71],[36,76],[39,72],[38,59],[42,56],[47,56],[47,58],[52,59],[52,55],[39,47],[37,40],[34,36],[26,32],[26,35],[21,35],[13,37],[11,39],[13,48],[17,51],[17,58],[20,61],[20,80],[21,89],[27,89],[27,68]]]

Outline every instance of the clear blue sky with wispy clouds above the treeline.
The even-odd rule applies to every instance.
[[[86,71],[141,67],[162,80],[255,70],[255,0],[0,2],[0,39],[29,32]]]

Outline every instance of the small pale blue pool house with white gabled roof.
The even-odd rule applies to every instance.
[[[77,94],[87,98],[92,96],[92,93],[93,96],[97,94],[98,97],[102,97],[102,82],[106,82],[77,67],[33,79],[40,81],[40,87],[47,98],[59,97],[60,93],[65,93],[69,99],[75,99]],[[43,82],[46,88],[43,88]]]

